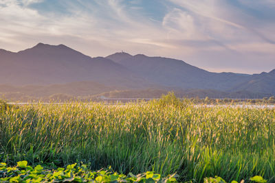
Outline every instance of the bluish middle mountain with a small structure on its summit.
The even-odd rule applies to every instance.
[[[115,53],[107,58],[160,85],[180,88],[230,90],[247,82],[250,75],[236,73],[211,73],[182,60],[148,57],[142,54]]]

